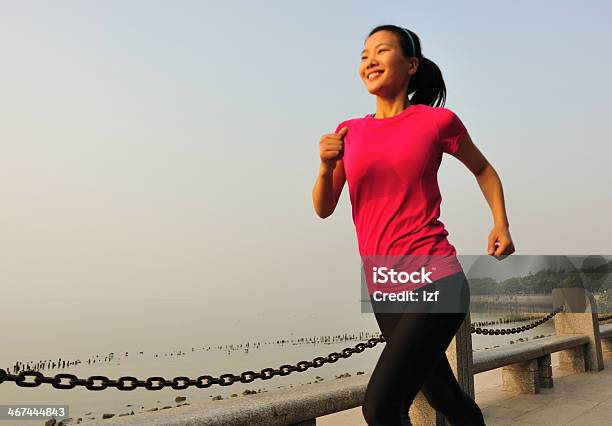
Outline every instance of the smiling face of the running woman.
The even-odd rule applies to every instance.
[[[371,94],[393,97],[407,90],[417,66],[417,58],[408,59],[404,56],[395,33],[378,31],[365,42],[359,76]]]

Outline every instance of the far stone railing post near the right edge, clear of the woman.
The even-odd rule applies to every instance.
[[[600,371],[604,368],[597,304],[593,294],[581,287],[555,288],[554,306],[565,305],[565,311],[554,317],[557,334],[585,334],[589,337],[583,347],[559,352],[559,368],[572,372]]]

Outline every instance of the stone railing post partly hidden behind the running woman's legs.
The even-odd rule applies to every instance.
[[[446,349],[446,357],[457,377],[457,381],[472,398],[474,398],[474,359],[472,354],[471,319],[468,312],[465,320],[457,330],[455,337]],[[419,392],[410,407],[410,420],[415,425],[445,426],[444,415],[437,412]]]

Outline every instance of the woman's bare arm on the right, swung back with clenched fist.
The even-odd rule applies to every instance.
[[[488,254],[507,256],[514,253],[514,243],[510,236],[510,223],[506,214],[504,190],[501,180],[493,166],[474,145],[469,133],[459,144],[457,152],[451,154],[461,161],[474,174],[480,189],[493,214],[493,230],[489,233]],[[497,247],[496,247],[497,246]]]

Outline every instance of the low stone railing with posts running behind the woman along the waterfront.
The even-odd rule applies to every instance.
[[[459,383],[472,397],[475,395],[474,374],[497,368],[502,368],[504,389],[538,393],[541,388],[553,387],[552,353],[559,354],[561,370],[585,372],[604,368],[604,357],[612,357],[612,324],[599,324],[592,295],[578,303],[582,306],[576,306],[576,295],[567,294],[571,290],[555,291],[555,306],[560,299],[572,302],[566,303],[566,310],[554,317],[556,335],[537,341],[474,353],[468,313],[446,355]],[[310,426],[316,424],[317,417],[361,406],[369,378],[369,374],[363,374],[87,424]],[[433,410],[420,392],[410,408],[410,417],[419,425],[446,424],[444,416]]]

